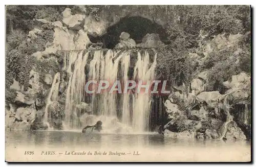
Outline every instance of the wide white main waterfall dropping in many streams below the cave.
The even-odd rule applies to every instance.
[[[93,58],[88,61],[88,55],[92,54]],[[150,54],[137,52],[138,58],[134,66],[134,81],[143,81],[143,84],[152,83],[154,79],[154,70],[156,66],[156,54],[154,59],[150,59]],[[136,132],[144,132],[150,129],[150,110],[151,110],[151,93],[110,93],[110,89],[101,90],[100,93],[86,94],[84,86],[89,80],[109,81],[110,88],[118,85],[120,79],[121,87],[130,79],[130,58],[129,51],[89,51],[85,55],[82,52],[71,51],[69,62],[67,62],[67,71],[70,75],[66,101],[65,101],[65,125],[70,129],[80,128],[101,120],[103,129],[115,129],[115,126],[132,128]],[[74,67],[72,67],[74,64]],[[85,66],[88,71],[85,71]],[[73,68],[73,69],[72,69]],[[86,77],[87,75],[87,77]],[[95,84],[91,85],[92,89],[97,91]],[[143,88],[142,88],[143,89]],[[92,113],[81,115],[80,109],[76,105],[86,102],[90,97],[90,106]],[[92,117],[93,115],[93,117]],[[92,119],[90,122],[88,120]],[[105,126],[105,127],[104,127]],[[122,128],[121,128],[122,129]],[[120,128],[118,129],[118,131]]]

